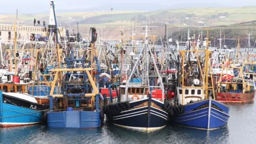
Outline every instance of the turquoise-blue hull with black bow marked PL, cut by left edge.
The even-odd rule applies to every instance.
[[[15,127],[39,124],[46,120],[49,105],[41,105],[28,94],[0,91],[0,126]]]

